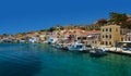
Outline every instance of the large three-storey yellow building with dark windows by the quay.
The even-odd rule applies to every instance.
[[[107,25],[102,27],[102,45],[104,46],[115,46],[116,42],[121,40],[120,37],[120,26],[118,25]]]

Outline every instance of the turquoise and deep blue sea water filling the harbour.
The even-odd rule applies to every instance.
[[[0,76],[131,76],[131,56],[92,58],[48,45],[1,43]]]

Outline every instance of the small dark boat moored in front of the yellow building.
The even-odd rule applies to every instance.
[[[107,55],[107,52],[104,51],[103,49],[93,49],[90,51],[90,54],[92,56],[104,56],[104,55]]]

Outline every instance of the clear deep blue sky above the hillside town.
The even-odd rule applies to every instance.
[[[131,14],[131,0],[0,0],[0,35],[40,30]]]

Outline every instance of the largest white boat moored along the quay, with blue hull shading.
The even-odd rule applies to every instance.
[[[88,51],[90,48],[87,48],[83,43],[74,43],[74,45],[68,47],[68,50],[69,51]]]

